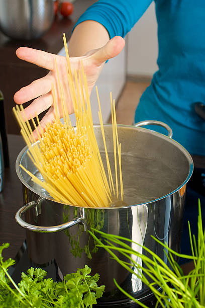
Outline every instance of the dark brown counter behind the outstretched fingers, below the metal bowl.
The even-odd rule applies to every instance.
[[[17,48],[25,46],[57,54],[63,47],[63,33],[66,34],[66,38],[69,40],[73,26],[79,16],[94,2],[94,0],[76,0],[73,4],[73,14],[69,18],[58,16],[50,30],[40,39],[28,41],[12,40],[0,32],[0,88],[5,97],[5,116],[8,133],[20,133],[12,114],[12,107],[15,105],[13,100],[14,94],[20,88],[43,77],[47,73],[47,70],[44,68],[39,68],[34,64],[18,59],[16,56]]]

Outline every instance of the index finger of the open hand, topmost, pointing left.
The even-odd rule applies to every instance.
[[[16,54],[18,58],[46,69],[52,70],[54,67],[54,59],[56,55],[52,53],[28,47],[20,47],[17,49]]]

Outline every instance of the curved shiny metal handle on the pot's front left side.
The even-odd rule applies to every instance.
[[[31,230],[38,233],[53,233],[53,232],[60,232],[62,230],[65,230],[77,223],[82,223],[84,226],[84,231],[86,231],[85,227],[85,213],[84,208],[80,208],[80,217],[76,217],[71,221],[59,224],[59,225],[53,225],[53,226],[38,226],[34,224],[30,224],[26,221],[24,221],[21,216],[23,213],[25,213],[28,209],[35,207],[36,211],[38,212],[38,203],[35,201],[31,201],[27,203],[25,206],[21,207],[18,212],[16,213],[16,221],[18,224],[20,224],[23,228],[27,230]]]

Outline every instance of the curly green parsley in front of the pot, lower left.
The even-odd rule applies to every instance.
[[[4,261],[2,252],[9,244],[0,246],[0,307],[73,307],[91,308],[96,299],[102,296],[105,286],[97,286],[99,275],[90,276],[91,269],[85,265],[76,273],[68,274],[63,281],[46,279],[46,271],[30,268],[22,273],[18,285],[14,282],[8,268],[15,264],[11,258]],[[11,287],[11,284],[13,287]]]

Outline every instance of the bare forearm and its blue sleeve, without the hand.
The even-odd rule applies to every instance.
[[[124,37],[152,1],[98,0],[77,21],[69,41],[69,55],[81,56],[104,46],[115,36]]]

